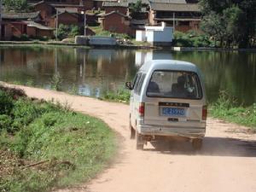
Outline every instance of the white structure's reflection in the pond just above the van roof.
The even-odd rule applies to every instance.
[[[165,50],[138,50],[135,53],[136,66],[141,66],[144,62],[152,60],[172,60],[172,53]]]

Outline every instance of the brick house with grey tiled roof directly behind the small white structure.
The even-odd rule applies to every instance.
[[[151,0],[149,3],[149,24],[159,25],[166,22],[167,26],[173,26],[175,30],[187,32],[199,30],[201,12],[196,1],[188,0]]]

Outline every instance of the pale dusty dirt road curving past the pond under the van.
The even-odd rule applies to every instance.
[[[148,145],[135,149],[129,139],[128,106],[82,96],[19,86],[32,97],[71,104],[103,119],[121,136],[120,155],[105,172],[79,187],[59,191],[91,192],[228,192],[256,191],[256,134],[238,125],[207,119],[207,137],[200,152],[190,143]]]

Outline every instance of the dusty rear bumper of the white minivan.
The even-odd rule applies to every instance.
[[[205,127],[166,127],[154,125],[138,125],[137,131],[143,136],[178,136],[201,138],[206,135]]]

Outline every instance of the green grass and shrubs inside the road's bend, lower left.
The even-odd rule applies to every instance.
[[[113,132],[68,104],[0,87],[0,191],[49,191],[88,181],[113,157]]]

